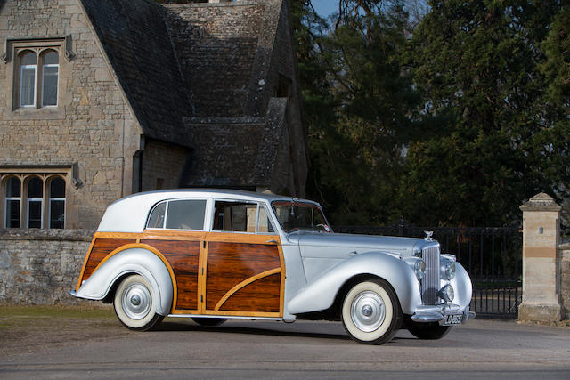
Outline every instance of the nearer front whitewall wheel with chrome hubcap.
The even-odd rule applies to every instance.
[[[342,322],[362,344],[384,344],[402,325],[402,310],[394,290],[383,279],[358,283],[345,296]]]

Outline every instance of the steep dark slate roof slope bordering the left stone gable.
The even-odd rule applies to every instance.
[[[167,26],[165,8],[149,0],[81,0],[142,131],[189,146],[183,117],[191,116]]]

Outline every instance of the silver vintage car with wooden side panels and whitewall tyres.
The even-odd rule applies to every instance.
[[[363,344],[437,339],[475,318],[471,280],[430,238],[334,233],[310,200],[162,190],[109,206],[72,295],[147,330],[165,317],[342,320]]]

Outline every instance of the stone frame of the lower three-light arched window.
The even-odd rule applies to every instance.
[[[32,178],[39,178],[42,181],[42,229],[50,229],[51,226],[51,201],[61,200],[61,198],[52,198],[50,185],[53,179],[61,178],[65,182],[65,198],[64,200],[64,220],[63,228],[68,228],[69,224],[69,194],[71,190],[72,169],[67,167],[48,167],[48,168],[0,168],[0,228],[6,228],[6,182],[10,178],[18,178],[20,180],[20,228],[28,228],[28,182]]]

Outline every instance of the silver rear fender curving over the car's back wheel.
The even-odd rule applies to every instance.
[[[170,312],[174,299],[170,272],[159,256],[144,248],[129,248],[110,256],[89,279],[85,280],[77,292],[72,292],[72,295],[90,300],[102,300],[109,294],[113,284],[127,273],[137,273],[148,279],[152,287],[152,296],[159,301],[155,303],[154,310],[159,315],[167,315]]]

